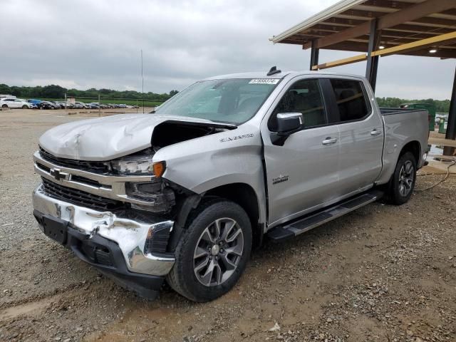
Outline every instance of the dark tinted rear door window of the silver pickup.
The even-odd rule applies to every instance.
[[[361,120],[370,113],[361,81],[335,78],[330,81],[336,98],[339,123]]]

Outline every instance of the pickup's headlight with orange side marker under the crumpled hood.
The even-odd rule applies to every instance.
[[[154,175],[165,172],[165,162],[152,162],[152,155],[128,155],[111,161],[111,167],[119,175]]]

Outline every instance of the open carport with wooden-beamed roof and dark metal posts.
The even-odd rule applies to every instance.
[[[310,70],[367,61],[366,78],[375,91],[380,56],[456,58],[456,0],[343,0],[271,41],[310,48]],[[322,48],[362,53],[318,63]],[[456,140],[456,68],[445,138]]]

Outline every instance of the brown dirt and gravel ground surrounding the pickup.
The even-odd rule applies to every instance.
[[[195,304],[167,287],[145,301],[33,219],[38,137],[81,119],[0,111],[0,341],[456,341],[455,175],[401,207],[377,202],[266,242],[216,301]],[[441,178],[419,176],[417,188]]]

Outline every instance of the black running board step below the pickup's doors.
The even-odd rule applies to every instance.
[[[309,216],[299,219],[293,223],[271,229],[267,232],[267,235],[274,242],[291,239],[292,237],[296,237],[296,235],[308,232],[315,227],[321,226],[321,224],[341,217],[348,212],[353,212],[353,210],[364,207],[366,204],[375,202],[381,197],[383,197],[383,192],[379,190],[365,192],[362,195],[351,197],[343,202],[338,202],[332,207],[323,209],[323,211],[316,214],[310,214]]]

